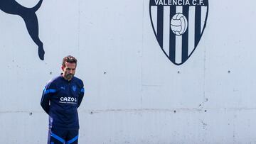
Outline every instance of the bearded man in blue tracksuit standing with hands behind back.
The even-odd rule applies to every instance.
[[[78,107],[85,90],[82,80],[74,77],[76,66],[75,57],[64,57],[63,73],[43,90],[41,106],[49,115],[48,144],[78,143]]]

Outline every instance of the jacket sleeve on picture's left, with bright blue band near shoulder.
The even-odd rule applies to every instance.
[[[41,106],[46,113],[49,114],[50,110],[50,96],[56,92],[56,89],[52,83],[48,83],[46,87],[43,89]]]

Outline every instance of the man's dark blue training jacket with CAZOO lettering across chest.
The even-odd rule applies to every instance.
[[[81,79],[70,81],[62,75],[50,80],[43,89],[41,106],[49,115],[49,128],[78,129],[78,107],[85,89]]]

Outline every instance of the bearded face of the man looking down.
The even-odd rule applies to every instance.
[[[63,70],[63,77],[65,79],[71,80],[75,75],[75,67],[75,63],[65,62],[65,66],[61,67]]]

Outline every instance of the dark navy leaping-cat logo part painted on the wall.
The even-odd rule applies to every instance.
[[[43,43],[38,36],[38,18],[36,11],[40,8],[43,0],[40,0],[33,8],[26,8],[15,0],[0,0],[0,9],[6,13],[21,16],[26,23],[26,28],[32,40],[38,45],[38,56],[44,60]]]

